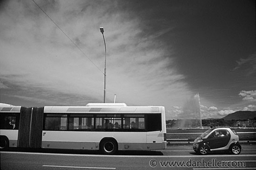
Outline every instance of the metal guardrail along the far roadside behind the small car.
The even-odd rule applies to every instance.
[[[240,143],[256,143],[256,132],[236,132]],[[168,144],[190,144],[202,133],[167,133]]]

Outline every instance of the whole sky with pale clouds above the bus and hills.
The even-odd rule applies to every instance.
[[[34,3],[35,2],[35,3]],[[38,6],[45,12],[43,12]],[[256,111],[255,0],[1,0],[0,102]],[[58,25],[58,26],[56,26]]]

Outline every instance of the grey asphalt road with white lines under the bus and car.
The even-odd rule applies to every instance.
[[[256,145],[242,145],[240,155],[196,155],[192,146],[158,151],[20,150],[0,152],[1,170],[256,170]]]

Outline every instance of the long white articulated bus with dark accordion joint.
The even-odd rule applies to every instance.
[[[100,150],[166,148],[162,106],[0,106],[0,147]]]

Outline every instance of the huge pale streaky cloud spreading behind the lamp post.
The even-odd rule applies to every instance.
[[[163,29],[148,36],[141,19],[107,1],[37,1],[44,11],[85,53],[40,11],[33,1],[8,1],[0,13],[0,75],[2,82],[19,86],[26,101],[103,101],[104,27],[107,45],[107,102],[128,105],[181,104],[191,94],[185,76],[175,67],[170,44],[158,38]],[[92,62],[88,59],[92,60]],[[97,67],[95,67],[95,65]],[[30,91],[34,91],[31,98]],[[81,96],[75,98],[74,96]],[[39,100],[35,100],[38,98]],[[3,98],[1,98],[3,100]],[[50,100],[49,100],[50,102]],[[85,103],[86,104],[86,103]]]

